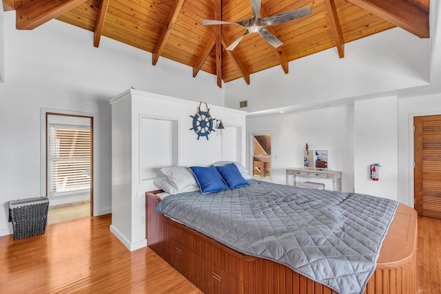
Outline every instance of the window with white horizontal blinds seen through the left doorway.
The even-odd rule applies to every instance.
[[[89,118],[85,119],[90,122]],[[90,126],[48,120],[48,197],[90,194]]]

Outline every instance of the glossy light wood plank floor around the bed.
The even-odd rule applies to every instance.
[[[110,215],[0,238],[0,293],[201,293],[150,249],[128,251]],[[441,220],[418,218],[418,293],[441,293]]]

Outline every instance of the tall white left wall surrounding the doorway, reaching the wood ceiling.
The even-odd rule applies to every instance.
[[[223,105],[224,90],[217,87],[216,76],[200,72],[193,78],[192,67],[163,58],[152,66],[152,54],[105,37],[94,48],[92,32],[61,21],[28,31],[15,29],[14,11],[4,17],[7,78],[0,83],[0,235],[12,233],[10,200],[41,195],[41,109],[96,115],[95,210],[102,214],[112,207],[111,98],[133,86]],[[0,37],[1,31],[0,24]]]

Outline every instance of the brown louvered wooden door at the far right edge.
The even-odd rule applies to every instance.
[[[417,116],[415,125],[415,209],[441,218],[441,116]]]

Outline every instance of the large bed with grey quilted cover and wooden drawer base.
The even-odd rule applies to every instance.
[[[206,177],[207,169],[204,168],[202,171],[203,172],[201,172],[199,176],[203,175]],[[165,172],[165,174],[167,176],[167,172]],[[170,180],[170,178],[176,180],[176,172],[174,174],[168,173],[168,176],[172,176],[168,177],[168,180]],[[196,174],[194,174],[194,176],[196,178],[198,188],[201,188],[202,191],[203,185],[200,185],[201,183],[198,181],[198,176],[196,176]],[[228,181],[224,180],[224,182]],[[185,189],[183,189],[183,185],[187,184],[184,184],[183,181],[181,181],[181,187],[178,187],[176,191],[184,192],[174,193],[174,196],[169,196],[165,198],[165,200],[161,200],[161,198],[158,196],[162,195],[163,190],[147,192],[146,238],[148,246],[150,246],[151,249],[160,255],[161,258],[174,266],[176,270],[187,277],[190,282],[198,286],[198,288],[201,288],[201,290],[205,293],[416,292],[416,213],[410,207],[404,206],[403,204],[395,204],[395,207],[393,207],[393,202],[387,202],[391,205],[391,207],[387,208],[389,211],[388,213],[391,214],[391,220],[385,222],[384,224],[384,235],[382,235],[380,232],[378,233],[378,236],[368,235],[367,238],[367,244],[369,246],[371,246],[371,240],[376,240],[376,242],[379,243],[378,246],[381,246],[382,244],[382,247],[378,247],[378,254],[376,255],[371,256],[370,253],[362,253],[362,258],[355,258],[361,260],[370,259],[371,262],[373,262],[373,267],[371,269],[369,268],[369,264],[368,267],[365,268],[364,266],[366,265],[363,265],[363,263],[361,263],[361,265],[352,261],[349,264],[340,263],[342,262],[341,260],[343,260],[343,262],[347,262],[347,260],[353,259],[352,255],[347,253],[348,250],[351,250],[351,246],[356,248],[355,251],[362,252],[362,250],[365,250],[365,245],[360,246],[361,249],[358,249],[358,245],[354,246],[353,243],[351,243],[349,247],[345,246],[345,242],[348,240],[348,234],[343,236],[342,239],[345,240],[345,242],[342,242],[343,247],[338,247],[337,249],[334,248],[332,250],[341,251],[342,253],[347,254],[347,256],[343,255],[343,258],[335,264],[332,264],[333,259],[336,259],[336,256],[332,255],[334,254],[334,251],[331,251],[331,258],[323,258],[329,264],[330,271],[339,272],[337,280],[342,280],[342,282],[340,284],[333,284],[333,282],[329,283],[327,279],[325,279],[325,281],[320,279],[320,275],[316,275],[316,273],[302,271],[304,268],[309,269],[314,267],[319,268],[320,271],[323,271],[324,268],[322,268],[322,265],[315,264],[316,260],[307,266],[303,266],[302,264],[302,266],[298,266],[298,264],[289,264],[289,260],[297,260],[297,258],[293,257],[299,256],[298,252],[296,251],[297,249],[292,248],[295,246],[291,246],[293,242],[296,242],[296,239],[289,239],[290,237],[287,238],[287,232],[283,230],[280,231],[280,225],[278,222],[275,222],[276,229],[274,229],[274,226],[265,228],[265,224],[259,223],[261,218],[260,215],[268,212],[269,215],[265,215],[266,219],[268,216],[272,216],[274,211],[278,211],[280,207],[287,207],[288,210],[291,211],[293,210],[293,207],[294,210],[297,210],[298,207],[305,206],[306,212],[300,211],[300,215],[298,216],[302,216],[303,218],[307,215],[307,217],[305,217],[304,221],[299,222],[299,225],[305,224],[308,226],[309,223],[315,223],[324,218],[322,214],[318,214],[318,220],[317,218],[310,218],[310,216],[316,215],[317,210],[321,209],[322,211],[325,211],[325,214],[327,213],[326,211],[329,212],[325,218],[325,227],[327,226],[330,228],[331,234],[349,230],[349,232],[351,232],[349,237],[352,238],[350,235],[353,235],[353,229],[345,229],[344,226],[346,224],[342,224],[340,221],[340,219],[343,218],[339,217],[338,220],[336,220],[338,223],[337,227],[334,226],[334,220],[329,222],[329,218],[334,218],[335,215],[343,216],[343,214],[339,214],[338,211],[332,211],[334,208],[331,207],[334,205],[341,206],[341,203],[344,203],[345,206],[347,206],[347,203],[350,203],[349,200],[353,200],[353,202],[358,203],[368,196],[360,196],[353,193],[348,195],[334,191],[318,191],[314,189],[298,188],[286,185],[275,185],[272,183],[249,179],[247,179],[246,182],[247,185],[245,185],[242,179],[240,180],[240,185],[238,185],[238,187],[234,187],[234,189],[227,189],[226,191],[209,191],[208,193],[205,191],[205,193],[201,193],[201,191],[196,191],[196,187],[192,187],[190,189],[185,187]],[[163,185],[158,186],[164,187]],[[194,184],[192,184],[192,186],[194,186]],[[215,188],[215,190],[216,189],[217,188]],[[259,191],[259,193],[257,193],[259,200],[255,200],[252,198],[252,196],[247,195],[246,193],[248,193],[249,190],[254,190],[254,192]],[[237,195],[232,193],[237,193]],[[289,196],[291,193],[295,196]],[[320,196],[321,193],[324,193],[325,196]],[[269,198],[263,199],[263,195],[267,195]],[[322,197],[323,200],[318,200],[319,197]],[[238,199],[241,200],[239,201]],[[294,201],[294,204],[287,205],[287,203],[290,203],[291,200]],[[198,204],[198,201],[202,201],[202,204]],[[230,208],[232,211],[243,208],[237,208],[229,201],[247,202],[245,207],[254,207],[252,208],[253,211],[251,211],[251,214],[258,216],[257,223],[252,224],[254,220],[249,220],[247,217],[244,217],[244,219],[246,219],[244,225],[234,224],[233,227],[228,227],[228,224],[232,222],[231,220],[228,220],[229,217],[225,217],[220,214],[219,219],[217,219],[216,209],[222,207],[224,204],[220,205],[216,201],[221,203],[227,202],[227,205],[232,207]],[[208,202],[214,204],[207,206]],[[251,202],[251,204],[249,202]],[[268,206],[267,202],[274,203],[272,206]],[[190,208],[183,208],[185,206],[181,207],[181,205],[185,205],[186,203],[192,203],[192,205],[196,206]],[[167,207],[171,207],[172,211],[176,210],[179,212],[177,214],[170,214],[170,209],[167,211]],[[176,207],[181,208],[176,209]],[[205,207],[206,210],[204,211],[200,207]],[[318,207],[320,209],[317,209]],[[158,213],[160,210],[161,213]],[[220,208],[220,210],[223,209]],[[201,224],[198,224],[198,218],[200,218],[200,216],[193,216],[194,211],[202,211],[201,214],[207,214],[210,221],[202,220]],[[285,212],[280,213],[282,213],[280,215],[285,216]],[[179,214],[181,214],[181,216],[179,216]],[[232,218],[237,218],[238,215],[242,214],[247,216],[247,211],[240,211]],[[360,214],[360,212],[356,211],[353,214],[358,217],[357,215]],[[384,213],[381,212],[380,215],[382,214]],[[278,216],[278,218],[280,218],[280,216]],[[374,216],[373,219],[375,218],[377,217]],[[296,219],[298,219],[298,217],[296,217]],[[350,218],[347,218],[346,216],[344,219],[348,219],[350,221]],[[223,234],[225,235],[225,232],[219,233],[219,231],[222,230],[218,228],[214,230],[211,229],[211,231],[214,231],[214,233],[210,232],[210,229],[206,229],[206,227],[209,227],[206,224],[207,222],[213,222],[214,224],[226,224],[225,226],[218,226],[226,227],[225,231],[235,231],[237,227],[245,226],[250,227],[252,231],[254,230],[254,232],[256,232],[256,228],[260,228],[257,231],[260,231],[261,235],[259,235],[259,233],[257,233],[257,235],[256,233],[251,233],[251,235],[254,234],[252,238],[245,238],[250,239],[248,241],[251,243],[247,244],[245,242],[244,244],[241,244],[244,239],[242,237],[234,239],[236,237],[226,234],[226,238],[223,239],[222,236]],[[236,220],[234,220],[234,222],[236,222]],[[269,222],[273,222],[273,220],[270,220]],[[365,221],[363,220],[363,226],[365,226],[364,222]],[[376,222],[376,220],[374,220],[374,222]],[[283,227],[289,227],[291,229],[291,227],[296,227],[297,225],[297,223],[292,223],[291,220],[289,220],[288,225],[284,224]],[[318,224],[318,226],[322,227],[322,223]],[[367,227],[369,227],[369,225],[367,225]],[[311,227],[309,227],[309,231],[307,229],[309,234],[311,234],[311,230],[314,237],[315,229],[311,229]],[[238,231],[240,231],[240,229]],[[274,243],[274,240],[272,240],[271,242],[273,243],[270,243],[269,245],[262,245],[260,242],[256,242],[260,239],[273,239],[271,232],[274,231],[280,231],[278,233],[280,233],[279,235],[282,236],[281,242],[280,240],[276,240],[276,243]],[[274,235],[277,235],[278,233],[276,232]],[[320,231],[320,234],[323,233]],[[291,233],[288,235],[291,235]],[[321,238],[320,240],[329,239],[329,236],[325,237],[326,238]],[[306,239],[312,240],[314,238],[311,238],[311,235],[308,235],[308,238]],[[302,242],[301,240],[306,239],[300,238],[300,243]],[[289,242],[285,242],[288,240]],[[314,242],[318,241],[314,239]],[[396,246],[398,242],[400,246]],[[284,251],[283,254],[278,254],[280,253],[279,251],[282,250],[279,248],[280,243],[291,244],[289,245],[291,248],[283,249],[286,250],[287,253]],[[260,244],[260,247],[257,245],[255,246],[255,244]],[[269,253],[269,255],[267,254],[267,251],[271,249],[271,246],[276,247],[274,252],[276,252],[276,255],[282,256],[282,259],[278,260],[279,257],[274,258],[274,256],[271,255],[272,253]],[[269,249],[267,250],[267,248]],[[376,251],[376,248],[377,247],[375,245],[369,250]],[[302,250],[305,251],[305,249]],[[320,251],[324,250],[327,249],[322,249],[322,245],[320,244]],[[306,251],[311,251],[310,247],[307,247]],[[316,253],[314,254],[315,255],[311,256],[316,256]],[[289,258],[287,258],[287,256]],[[309,259],[311,259],[311,257],[307,257],[306,259],[308,262],[310,262]],[[345,271],[347,269],[358,269],[358,271],[346,274]],[[341,272],[342,270],[344,271]],[[325,273],[325,275],[328,275],[328,273]],[[352,277],[359,280],[356,281],[355,286],[353,284],[348,284],[348,281],[351,282],[351,278],[349,278],[349,280],[344,280],[346,276],[349,275],[352,275]],[[365,282],[363,282],[363,275],[365,276]],[[359,284],[360,288],[357,288],[357,283]]]

